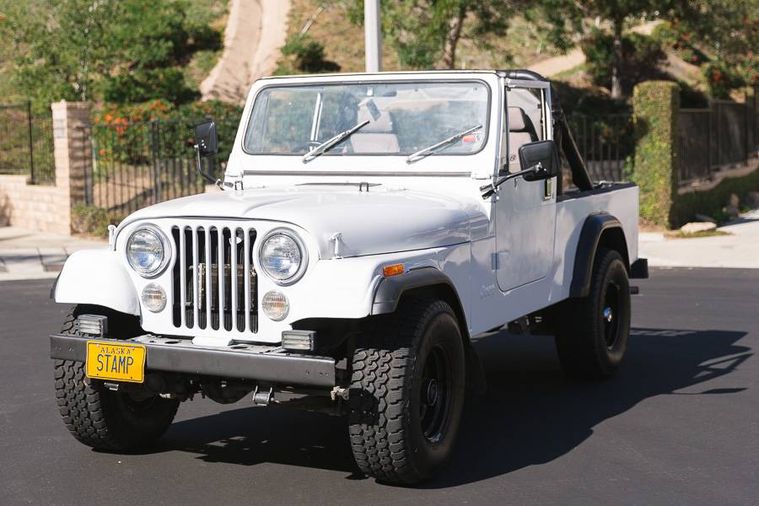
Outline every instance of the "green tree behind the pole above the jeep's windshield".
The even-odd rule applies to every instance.
[[[464,38],[504,36],[515,7],[527,0],[384,0],[382,32],[401,65],[456,68]],[[349,16],[363,22],[363,0],[350,0]]]

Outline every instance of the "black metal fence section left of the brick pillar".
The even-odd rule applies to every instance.
[[[55,183],[53,120],[31,103],[0,104],[0,174],[28,174],[32,184]]]

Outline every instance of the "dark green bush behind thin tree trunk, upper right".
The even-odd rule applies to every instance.
[[[611,88],[614,38],[602,30],[594,29],[580,43],[580,47],[585,53],[588,73],[593,83]],[[629,95],[633,86],[641,81],[660,77],[658,64],[664,57],[661,44],[654,38],[637,33],[624,35],[620,78],[625,94]]]

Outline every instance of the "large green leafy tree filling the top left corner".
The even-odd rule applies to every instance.
[[[0,0],[15,87],[38,104],[66,100],[182,103],[183,67],[221,36],[188,20],[189,0]]]

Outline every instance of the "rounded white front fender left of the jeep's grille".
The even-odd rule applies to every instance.
[[[63,304],[95,304],[121,313],[140,314],[140,303],[129,273],[110,249],[77,251],[63,265],[53,288]]]

